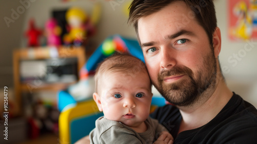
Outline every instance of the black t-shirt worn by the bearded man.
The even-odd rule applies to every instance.
[[[178,133],[181,114],[177,107],[165,105],[151,114],[166,127],[175,143],[257,143],[257,110],[233,94],[221,112],[200,128]],[[204,117],[204,116],[203,116]]]

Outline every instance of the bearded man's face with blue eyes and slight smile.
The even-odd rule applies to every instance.
[[[138,21],[138,35],[151,80],[169,102],[187,106],[214,89],[216,60],[204,28],[183,2]]]

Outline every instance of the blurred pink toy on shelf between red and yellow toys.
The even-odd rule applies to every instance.
[[[47,37],[47,45],[59,46],[61,42],[61,28],[58,26],[57,20],[51,18],[45,24],[45,32]]]

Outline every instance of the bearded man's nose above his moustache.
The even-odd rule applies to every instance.
[[[161,58],[160,58],[160,67],[162,69],[169,69],[176,65],[176,50],[171,47],[161,48]]]

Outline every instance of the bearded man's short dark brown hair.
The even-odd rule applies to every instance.
[[[217,27],[217,19],[213,0],[134,0],[130,5],[128,22],[134,24],[138,37],[138,20],[158,12],[171,3],[182,1],[194,12],[196,21],[208,34],[210,44],[213,45],[213,33]],[[139,37],[138,37],[139,40]],[[139,40],[140,43],[140,40]]]

